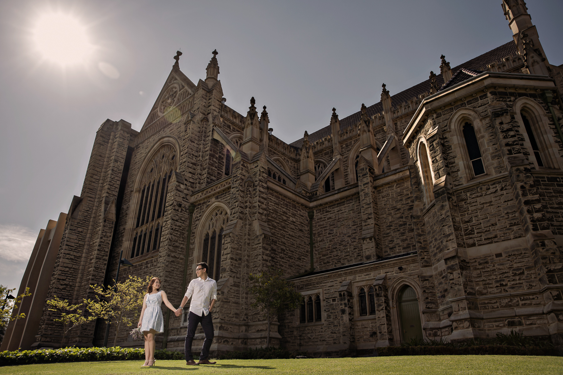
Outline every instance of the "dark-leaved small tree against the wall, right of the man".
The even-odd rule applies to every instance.
[[[260,274],[249,274],[248,292],[254,299],[252,308],[260,309],[268,322],[266,346],[270,346],[270,326],[274,318],[288,310],[297,309],[303,300],[293,283],[283,278],[281,269],[271,268]]]

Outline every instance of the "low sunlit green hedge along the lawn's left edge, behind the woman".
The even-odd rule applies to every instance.
[[[155,359],[184,359],[184,353],[169,350],[156,350]],[[56,363],[56,362],[95,362],[145,359],[145,349],[125,347],[67,347],[65,349],[39,349],[0,352],[0,366]]]

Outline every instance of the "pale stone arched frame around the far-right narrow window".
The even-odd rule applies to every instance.
[[[518,98],[512,105],[516,112],[516,119],[520,124],[520,133],[524,135],[524,147],[528,150],[528,160],[532,162],[536,169],[546,168],[546,169],[561,169],[563,168],[563,161],[561,157],[558,157],[558,143],[555,142],[555,134],[553,130],[549,128],[548,117],[542,106],[537,102],[531,100],[530,98],[521,97]],[[524,119],[522,119],[522,113],[526,115],[529,120],[531,130],[534,134],[534,138],[538,143],[539,153],[543,161],[543,167],[539,166],[538,161],[534,155],[531,147],[530,138],[528,132],[524,127]]]

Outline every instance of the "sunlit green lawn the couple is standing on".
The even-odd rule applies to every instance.
[[[0,367],[0,374],[563,374],[563,358],[513,355],[436,355],[369,358],[221,360],[216,365],[186,366],[185,361],[73,362]]]

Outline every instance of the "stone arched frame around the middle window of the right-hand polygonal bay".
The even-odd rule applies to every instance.
[[[473,173],[471,159],[469,157],[467,144],[463,135],[463,126],[466,123],[470,123],[473,126],[473,130],[475,130],[483,168],[485,169],[485,173],[478,176]],[[452,132],[447,133],[447,135],[452,144],[452,154],[455,155],[454,164],[459,167],[458,176],[452,176],[454,185],[458,186],[466,184],[475,178],[482,178],[490,175],[490,156],[489,153],[486,152],[488,147],[483,139],[483,123],[479,114],[471,108],[460,108],[454,112],[448,124],[448,129],[452,130]]]

